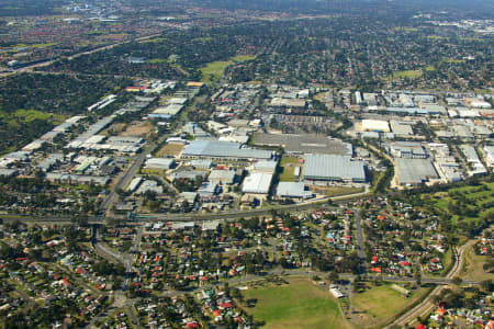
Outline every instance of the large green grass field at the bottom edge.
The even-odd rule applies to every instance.
[[[327,290],[306,279],[294,279],[290,284],[267,285],[244,291],[244,299],[256,298],[254,308],[247,308],[255,319],[263,320],[262,328],[346,328],[337,302]]]

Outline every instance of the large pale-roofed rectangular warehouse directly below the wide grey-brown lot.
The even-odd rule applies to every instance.
[[[366,169],[362,161],[348,156],[305,155],[304,179],[308,181],[344,181],[364,183]]]

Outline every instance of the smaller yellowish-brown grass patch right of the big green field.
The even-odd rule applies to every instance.
[[[362,319],[369,319],[372,322],[385,320],[397,314],[412,300],[413,295],[406,298],[388,284],[371,286],[352,298],[353,307],[363,313]]]

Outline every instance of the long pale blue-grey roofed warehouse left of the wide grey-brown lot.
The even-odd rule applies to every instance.
[[[245,148],[242,144],[222,140],[195,139],[182,152],[183,158],[269,160],[272,151]]]

